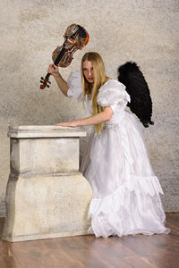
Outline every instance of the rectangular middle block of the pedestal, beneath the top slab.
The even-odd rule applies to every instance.
[[[12,147],[13,172],[61,173],[79,170],[79,138],[12,138]]]

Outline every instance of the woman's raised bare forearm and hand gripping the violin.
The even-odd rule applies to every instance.
[[[62,75],[60,74],[60,72],[58,71],[58,67],[55,66],[55,64],[50,64],[47,72],[51,73],[51,75],[54,76],[56,83],[58,85],[58,88],[60,88],[60,90],[62,91],[62,93],[64,93],[64,96],[67,96],[67,92],[68,92],[68,84],[67,82],[63,79]]]

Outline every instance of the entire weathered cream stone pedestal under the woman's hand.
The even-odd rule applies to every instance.
[[[23,241],[87,234],[92,192],[79,172],[80,128],[10,128],[11,172],[2,239]]]

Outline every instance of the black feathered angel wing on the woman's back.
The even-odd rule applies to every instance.
[[[135,113],[145,128],[151,121],[152,101],[148,84],[136,63],[128,62],[119,66],[118,80],[125,85],[125,90],[131,96],[131,103],[128,103],[132,113]]]

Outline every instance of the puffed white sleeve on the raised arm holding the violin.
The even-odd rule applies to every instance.
[[[76,98],[79,101],[82,100],[82,88],[81,88],[81,71],[72,71],[67,80],[68,91],[67,96]]]

